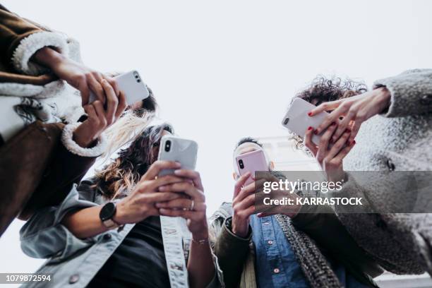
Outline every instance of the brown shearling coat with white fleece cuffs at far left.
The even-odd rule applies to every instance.
[[[61,202],[106,146],[73,141],[80,95],[32,61],[42,47],[80,61],[78,42],[0,5],[0,236],[18,213]]]

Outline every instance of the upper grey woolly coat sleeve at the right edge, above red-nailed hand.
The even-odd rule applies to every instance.
[[[377,80],[373,88],[385,86],[391,93],[384,116],[401,117],[432,112],[432,69],[414,69]]]

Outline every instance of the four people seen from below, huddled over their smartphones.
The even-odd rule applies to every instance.
[[[432,272],[431,214],[302,205],[257,215],[256,182],[246,184],[253,175],[235,165],[232,200],[208,217],[200,174],[157,160],[174,128],[152,124],[150,88],[126,104],[113,75],[80,61],[76,40],[3,6],[0,49],[0,234],[15,217],[25,220],[23,252],[47,259],[37,273],[52,275],[24,287],[356,288],[377,287],[373,278],[385,270]],[[349,171],[432,169],[432,69],[377,80],[371,90],[318,76],[296,97],[316,105],[308,116],[330,112],[291,140],[329,181],[344,180],[344,195],[374,206],[394,196]],[[83,179],[97,157],[120,147]],[[263,149],[241,138],[232,157]],[[163,169],[175,171],[158,177]]]

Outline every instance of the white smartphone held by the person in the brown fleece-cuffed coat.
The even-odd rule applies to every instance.
[[[124,92],[126,104],[131,105],[138,101],[147,98],[150,93],[148,92],[147,85],[143,82],[138,71],[129,71],[114,77],[119,90]],[[93,92],[90,92],[89,103],[97,99]]]

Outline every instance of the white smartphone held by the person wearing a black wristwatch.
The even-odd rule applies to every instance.
[[[195,141],[167,135],[160,140],[157,159],[176,161],[181,164],[181,169],[194,170],[197,152],[198,144]],[[159,173],[159,176],[173,173],[174,169],[164,169]]]

